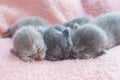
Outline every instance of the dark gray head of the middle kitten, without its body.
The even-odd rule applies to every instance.
[[[47,46],[47,60],[63,60],[69,56],[73,46],[70,30],[62,27],[49,28],[44,32],[43,39]]]

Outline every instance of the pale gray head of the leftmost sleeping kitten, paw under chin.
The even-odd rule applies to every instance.
[[[43,34],[34,27],[22,27],[13,36],[11,52],[25,62],[35,59],[43,60],[46,50]]]

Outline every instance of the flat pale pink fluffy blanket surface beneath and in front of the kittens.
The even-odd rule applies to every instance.
[[[120,80],[120,46],[96,59],[25,63],[9,53],[11,39],[0,45],[0,80]]]

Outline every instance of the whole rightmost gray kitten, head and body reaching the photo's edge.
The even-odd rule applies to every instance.
[[[104,54],[105,49],[120,44],[120,13],[107,13],[98,16],[90,24],[79,26],[72,40],[72,55],[75,58],[87,59]]]

